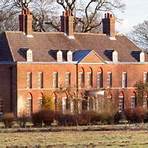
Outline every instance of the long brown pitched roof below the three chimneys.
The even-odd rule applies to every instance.
[[[0,61],[26,61],[21,51],[28,48],[33,51],[33,60],[37,62],[56,61],[55,54],[51,52],[54,50],[86,52],[86,49],[94,50],[105,61],[111,61],[109,52],[116,50],[120,62],[137,62],[135,54],[141,51],[123,35],[117,35],[116,40],[112,40],[105,34],[94,33],[75,33],[74,39],[62,32],[34,32],[33,37],[27,37],[22,32],[0,34]]]

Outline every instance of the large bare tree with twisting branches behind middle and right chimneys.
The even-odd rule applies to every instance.
[[[101,25],[101,12],[124,10],[125,4],[120,0],[89,0],[79,3],[81,8],[77,8],[78,0],[57,0],[63,9],[71,10],[74,13],[81,13],[80,17],[75,18],[75,27],[80,32],[90,32]],[[85,4],[84,4],[85,3]],[[79,7],[79,6],[78,6]]]

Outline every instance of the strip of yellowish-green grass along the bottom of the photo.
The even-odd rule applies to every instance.
[[[147,148],[148,131],[0,133],[0,148],[6,146]]]

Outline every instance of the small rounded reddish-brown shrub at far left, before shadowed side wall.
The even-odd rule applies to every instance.
[[[13,113],[5,113],[2,120],[4,122],[5,128],[11,128],[15,121],[15,116]]]

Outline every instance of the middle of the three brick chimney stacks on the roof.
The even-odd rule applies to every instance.
[[[73,37],[74,16],[70,10],[66,10],[61,16],[61,31],[64,32],[67,36]]]

